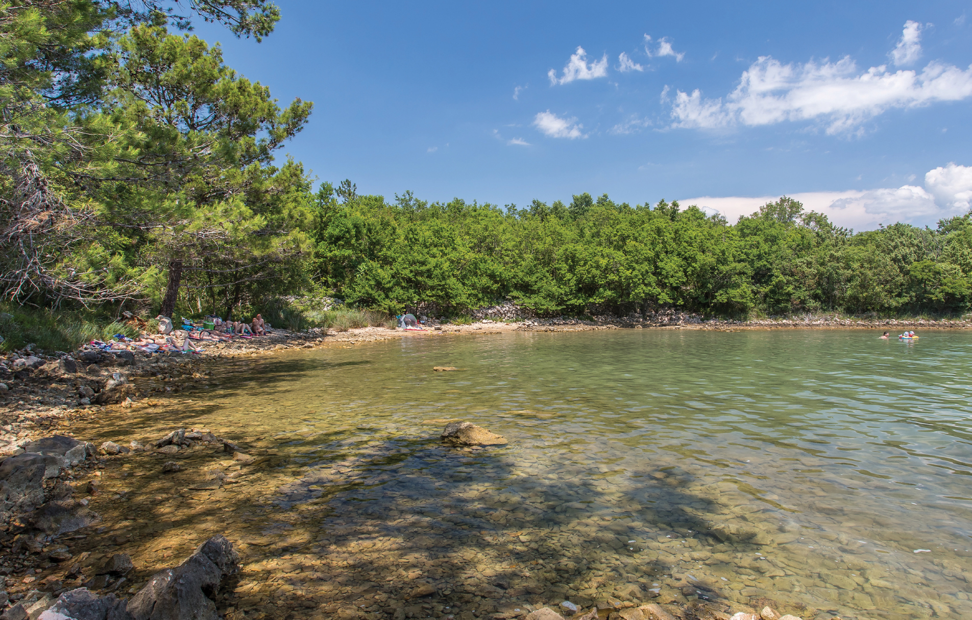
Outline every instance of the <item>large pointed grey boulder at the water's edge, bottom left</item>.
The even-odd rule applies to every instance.
[[[217,620],[210,597],[239,569],[238,563],[232,543],[225,536],[213,536],[178,567],[156,572],[128,602],[128,613],[134,620]]]

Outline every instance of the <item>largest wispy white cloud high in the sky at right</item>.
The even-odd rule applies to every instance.
[[[885,65],[859,72],[850,57],[837,62],[782,64],[761,56],[743,72],[725,101],[704,99],[699,90],[677,91],[675,127],[717,128],[782,121],[823,121],[827,133],[854,130],[892,108],[917,108],[972,96],[972,66],[929,62],[919,72],[889,73]]]

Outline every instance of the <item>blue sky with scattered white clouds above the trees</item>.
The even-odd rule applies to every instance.
[[[731,221],[787,194],[855,229],[972,201],[967,3],[279,5],[260,44],[195,33],[313,101],[286,152],[361,193],[607,192]]]

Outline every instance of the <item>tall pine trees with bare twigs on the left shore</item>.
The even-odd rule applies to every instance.
[[[188,7],[258,40],[279,18],[267,0]],[[219,46],[166,25],[190,22],[156,0],[0,4],[8,298],[136,299],[169,314],[205,292],[229,314],[304,283],[310,182],[272,161],[312,106],[281,108]]]

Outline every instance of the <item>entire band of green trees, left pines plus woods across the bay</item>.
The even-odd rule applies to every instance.
[[[607,194],[526,209],[345,181],[274,153],[311,104],[226,66],[193,18],[271,33],[267,0],[0,2],[0,287],[39,307],[217,311],[292,293],[399,312],[962,312],[972,221],[852,233],[789,199],[730,224]],[[185,8],[185,12],[181,9]]]

